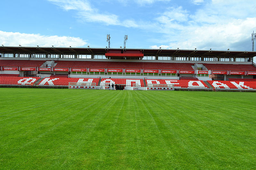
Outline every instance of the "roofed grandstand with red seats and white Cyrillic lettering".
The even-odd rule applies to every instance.
[[[0,47],[0,85],[256,89],[253,51]],[[71,87],[71,86],[70,86]],[[72,86],[75,87],[75,86]],[[76,86],[85,88],[84,86]],[[87,86],[86,86],[87,87]],[[91,85],[90,85],[91,88]]]

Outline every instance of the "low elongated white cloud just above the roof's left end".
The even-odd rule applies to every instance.
[[[29,46],[36,47],[82,47],[87,44],[79,37],[46,36],[40,34],[13,33],[0,31],[0,43],[4,46]]]

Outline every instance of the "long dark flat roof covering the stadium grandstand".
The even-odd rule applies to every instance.
[[[98,54],[105,55],[108,50],[133,51],[140,50],[144,55],[164,56],[224,56],[224,57],[254,57],[256,51],[218,51],[218,50],[185,50],[185,49],[131,49],[131,48],[73,48],[73,47],[5,47],[0,46],[0,53],[32,53],[32,54]]]

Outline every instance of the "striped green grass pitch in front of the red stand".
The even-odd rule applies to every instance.
[[[256,169],[256,94],[0,88],[0,169]]]

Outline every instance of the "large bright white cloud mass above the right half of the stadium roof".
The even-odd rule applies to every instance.
[[[251,3],[213,0],[194,14],[182,7],[167,10],[156,18],[160,25],[157,31],[163,33],[158,44],[180,49],[245,50],[243,43],[248,40],[250,46],[251,32],[256,29],[256,12]],[[175,13],[179,17],[175,17]],[[185,22],[178,22],[178,18]]]

